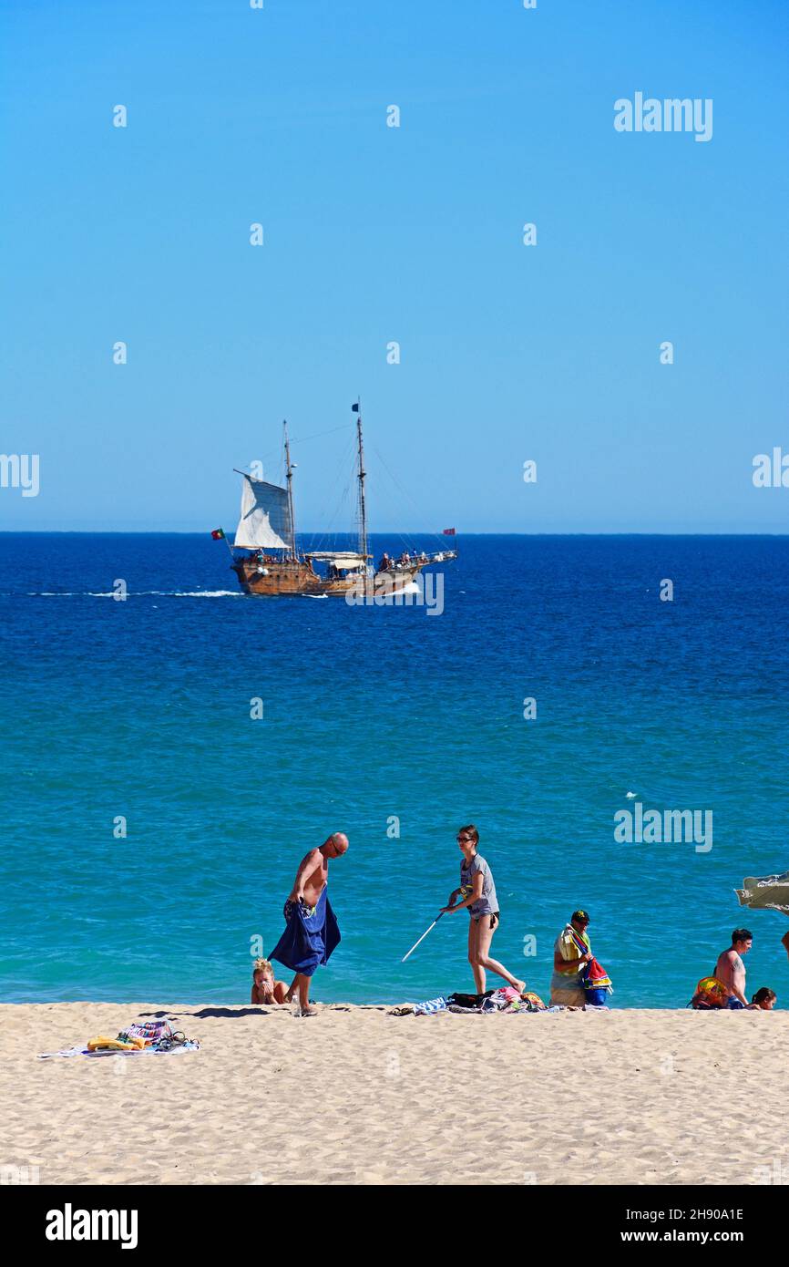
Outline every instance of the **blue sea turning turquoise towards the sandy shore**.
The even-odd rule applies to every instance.
[[[733,889],[789,868],[789,538],[457,545],[428,616],[244,597],[208,535],[0,535],[0,997],[247,1002],[252,939],[333,830],[314,996],[470,990],[465,914],[400,959],[471,821],[493,953],[540,993],[583,906],[614,1006],[683,1006],[742,922],[748,991],[785,1006],[786,921]],[[617,843],[636,801],[712,811],[712,850]]]

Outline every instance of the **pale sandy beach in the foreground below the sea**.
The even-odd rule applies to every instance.
[[[42,1185],[789,1177],[785,1014],[318,1007],[4,1005],[3,1163]],[[201,1049],[37,1059],[162,1015]]]

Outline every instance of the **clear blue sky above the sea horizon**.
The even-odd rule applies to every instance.
[[[786,531],[784,3],[4,0],[0,42],[0,527],[230,528],[287,417],[320,528],[361,395],[374,531]],[[636,91],[712,139],[617,133]]]

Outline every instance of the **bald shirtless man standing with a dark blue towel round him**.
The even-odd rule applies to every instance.
[[[329,860],[342,858],[348,848],[348,837],[333,831],[319,849],[301,859],[296,878],[285,902],[285,931],[271,952],[271,958],[295,972],[285,996],[291,1002],[299,992],[301,1016],[314,1016],[309,1005],[309,983],[319,963],[327,963],[339,941],[339,929],[327,896]]]

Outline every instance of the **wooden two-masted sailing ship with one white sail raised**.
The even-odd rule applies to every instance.
[[[246,471],[242,476],[241,517],[230,546],[230,568],[247,594],[344,595],[362,585],[376,592],[398,593],[414,587],[423,568],[448,563],[456,550],[433,554],[403,550],[395,557],[384,552],[377,564],[367,551],[367,502],[365,495],[365,446],[360,404],[356,414],[357,526],[356,550],[299,550],[294,509],[294,469],[290,460],[287,423],[282,423],[285,484],[268,484]],[[453,530],[452,530],[453,531]],[[229,545],[229,542],[228,542]]]

